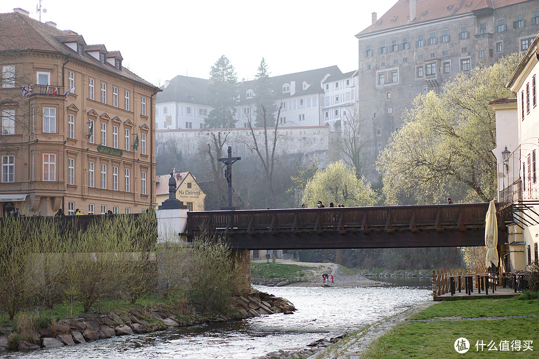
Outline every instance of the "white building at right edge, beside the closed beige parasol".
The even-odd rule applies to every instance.
[[[536,162],[539,156],[538,42],[539,36],[533,40],[507,83],[507,87],[517,94],[516,101],[493,103],[498,144],[494,154],[500,164],[500,208],[506,221],[512,220],[508,225],[510,270],[526,270],[527,265],[539,260],[539,186]],[[513,116],[509,117],[511,111]]]

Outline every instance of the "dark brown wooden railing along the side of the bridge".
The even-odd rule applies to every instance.
[[[443,231],[485,227],[488,203],[188,212],[184,234]]]

